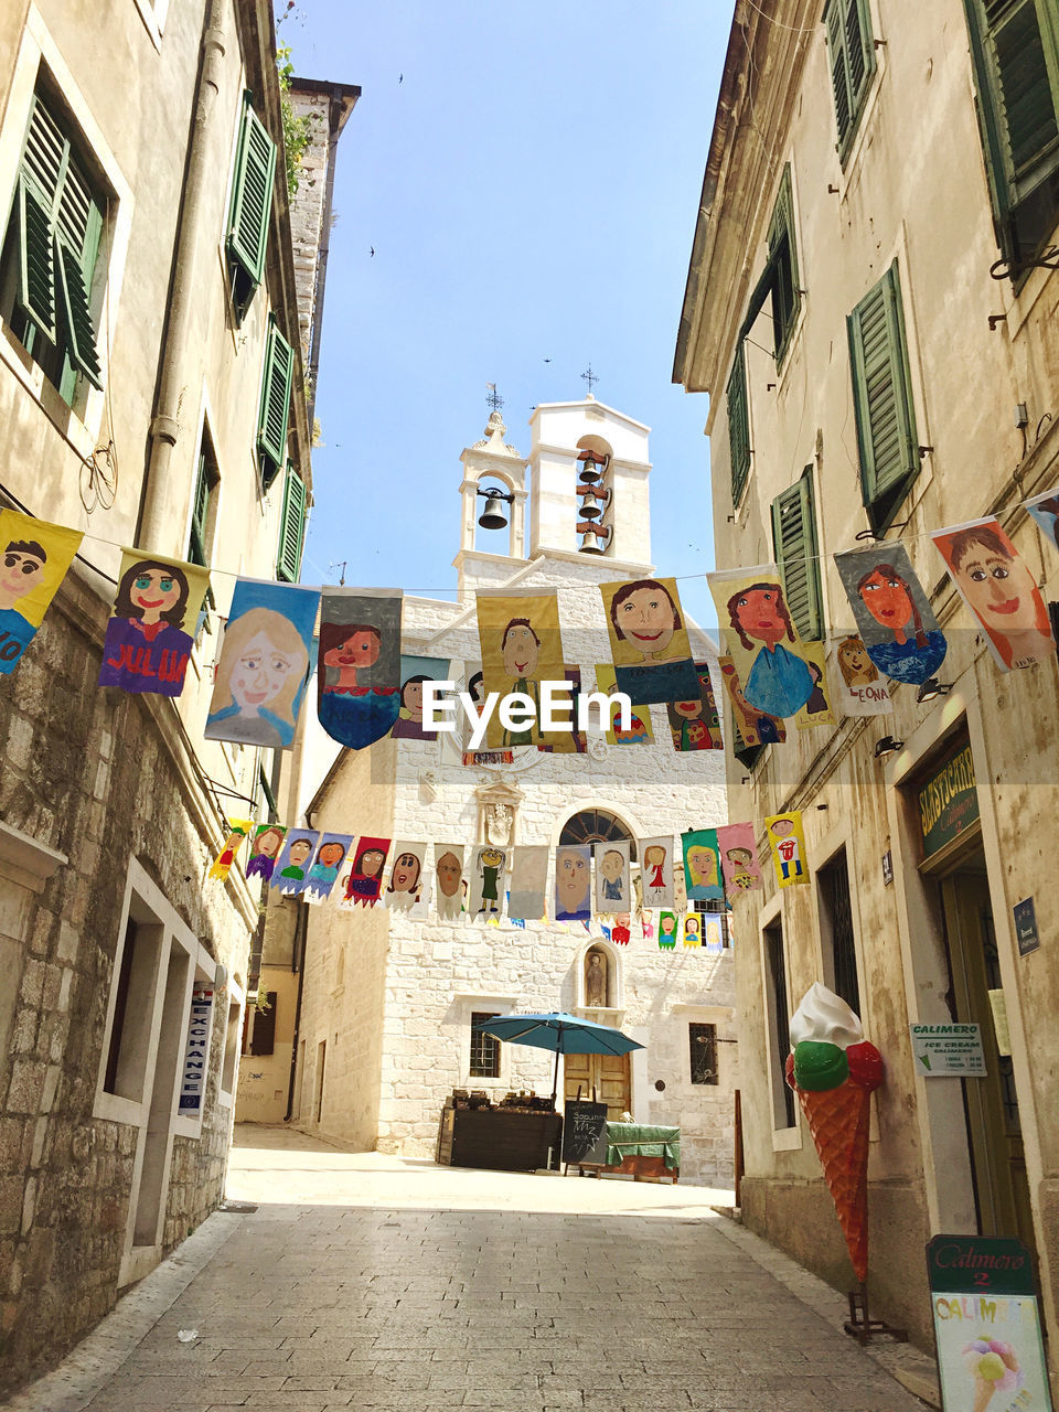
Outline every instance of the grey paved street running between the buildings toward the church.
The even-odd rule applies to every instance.
[[[723,1193],[439,1169],[240,1128],[229,1196],[261,1204],[188,1243],[205,1264],[95,1396],[68,1372],[16,1406],[922,1412],[788,1286],[826,1310],[833,1295],[785,1261],[775,1278],[768,1247],[710,1210]],[[102,1333],[114,1363],[119,1336]]]

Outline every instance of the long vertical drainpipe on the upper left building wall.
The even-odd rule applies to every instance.
[[[222,24],[225,0],[209,0],[202,34],[202,72],[195,103],[188,172],[184,182],[184,202],[176,233],[176,254],[169,291],[169,313],[158,378],[158,400],[151,421],[151,450],[140,504],[140,528],[136,537],[141,548],[171,548],[172,515],[168,508],[169,466],[181,432],[181,402],[186,391],[185,363],[189,343],[191,315],[198,297],[195,268],[199,246],[202,196],[210,172],[208,157],[209,130],[220,90],[226,35]]]

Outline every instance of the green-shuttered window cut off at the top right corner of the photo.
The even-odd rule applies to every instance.
[[[997,243],[1018,278],[1059,219],[1059,4],[964,6]]]

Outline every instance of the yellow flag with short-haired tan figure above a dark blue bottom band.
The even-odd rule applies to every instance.
[[[600,583],[617,688],[633,702],[699,696],[676,579]]]

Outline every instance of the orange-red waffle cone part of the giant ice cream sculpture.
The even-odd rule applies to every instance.
[[[827,1190],[839,1213],[853,1272],[868,1278],[868,1104],[871,1094],[856,1083],[809,1093],[798,1089]]]

